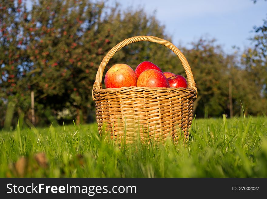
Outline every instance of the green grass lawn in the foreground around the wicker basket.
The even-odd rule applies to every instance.
[[[0,131],[0,177],[267,177],[266,117],[198,119],[190,133],[186,145],[119,148],[96,124],[18,125]]]

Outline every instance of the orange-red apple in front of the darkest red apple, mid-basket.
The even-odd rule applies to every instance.
[[[136,86],[139,87],[170,87],[167,78],[162,72],[155,69],[147,69],[137,79]]]

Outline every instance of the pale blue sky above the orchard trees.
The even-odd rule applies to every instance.
[[[112,1],[110,1],[112,2]],[[261,26],[267,15],[267,2],[259,0],[118,0],[123,9],[143,8],[148,14],[154,11],[165,25],[173,43],[190,47],[200,37],[215,38],[226,53],[232,46],[241,50],[251,46],[253,27]]]

